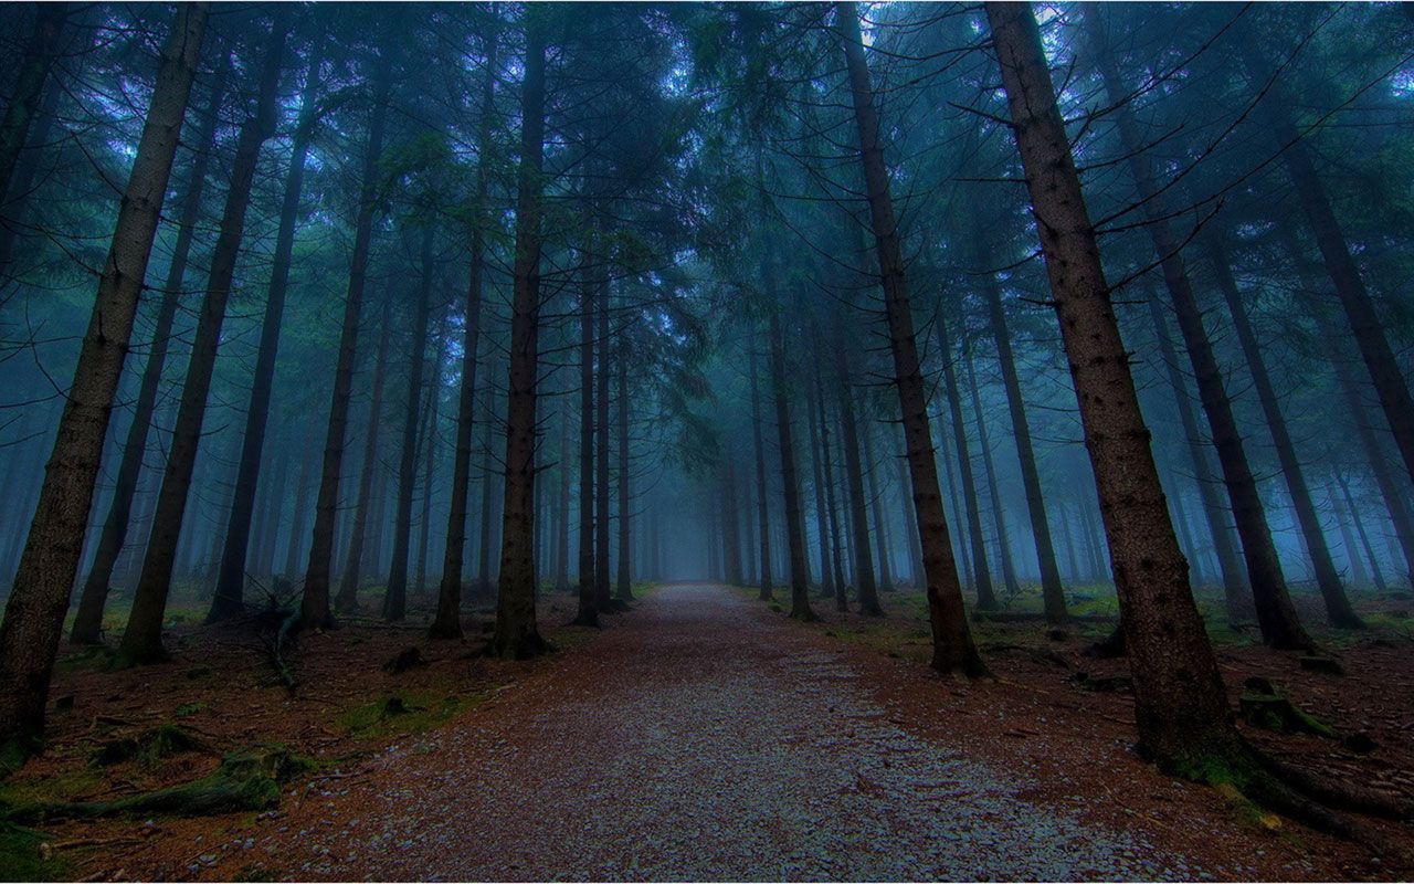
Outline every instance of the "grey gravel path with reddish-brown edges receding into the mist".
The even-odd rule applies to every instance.
[[[860,649],[731,590],[663,587],[608,624],[312,792],[260,846],[305,878],[1200,874],[904,730],[868,699]]]

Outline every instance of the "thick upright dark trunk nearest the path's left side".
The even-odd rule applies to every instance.
[[[546,642],[536,627],[534,550],[534,400],[540,369],[540,165],[544,156],[544,34],[542,13],[525,10],[526,57],[520,95],[520,177],[516,202],[515,283],[510,301],[509,388],[506,399],[506,489],[501,535],[501,593],[496,656],[540,653]]]

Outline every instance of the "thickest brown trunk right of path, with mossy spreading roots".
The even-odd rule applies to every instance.
[[[1027,3],[986,10],[1094,467],[1140,744],[1165,769],[1219,775],[1241,738],[1174,536],[1041,33]]]

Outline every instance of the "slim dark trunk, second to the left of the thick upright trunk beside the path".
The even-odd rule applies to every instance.
[[[403,416],[403,444],[397,460],[397,513],[393,522],[393,559],[389,563],[383,618],[397,622],[407,617],[407,564],[413,542],[413,494],[417,489],[417,421],[423,406],[423,369],[427,362],[427,325],[431,317],[433,240],[436,229],[423,225],[421,277],[413,304],[413,345],[407,369],[407,412]]]

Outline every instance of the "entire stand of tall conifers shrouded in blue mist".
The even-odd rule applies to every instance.
[[[913,587],[960,677],[1117,598],[1165,769],[1379,805],[1243,740],[1206,629],[1410,588],[1398,6],[3,16],[7,757],[174,597],[518,659],[553,593]]]

